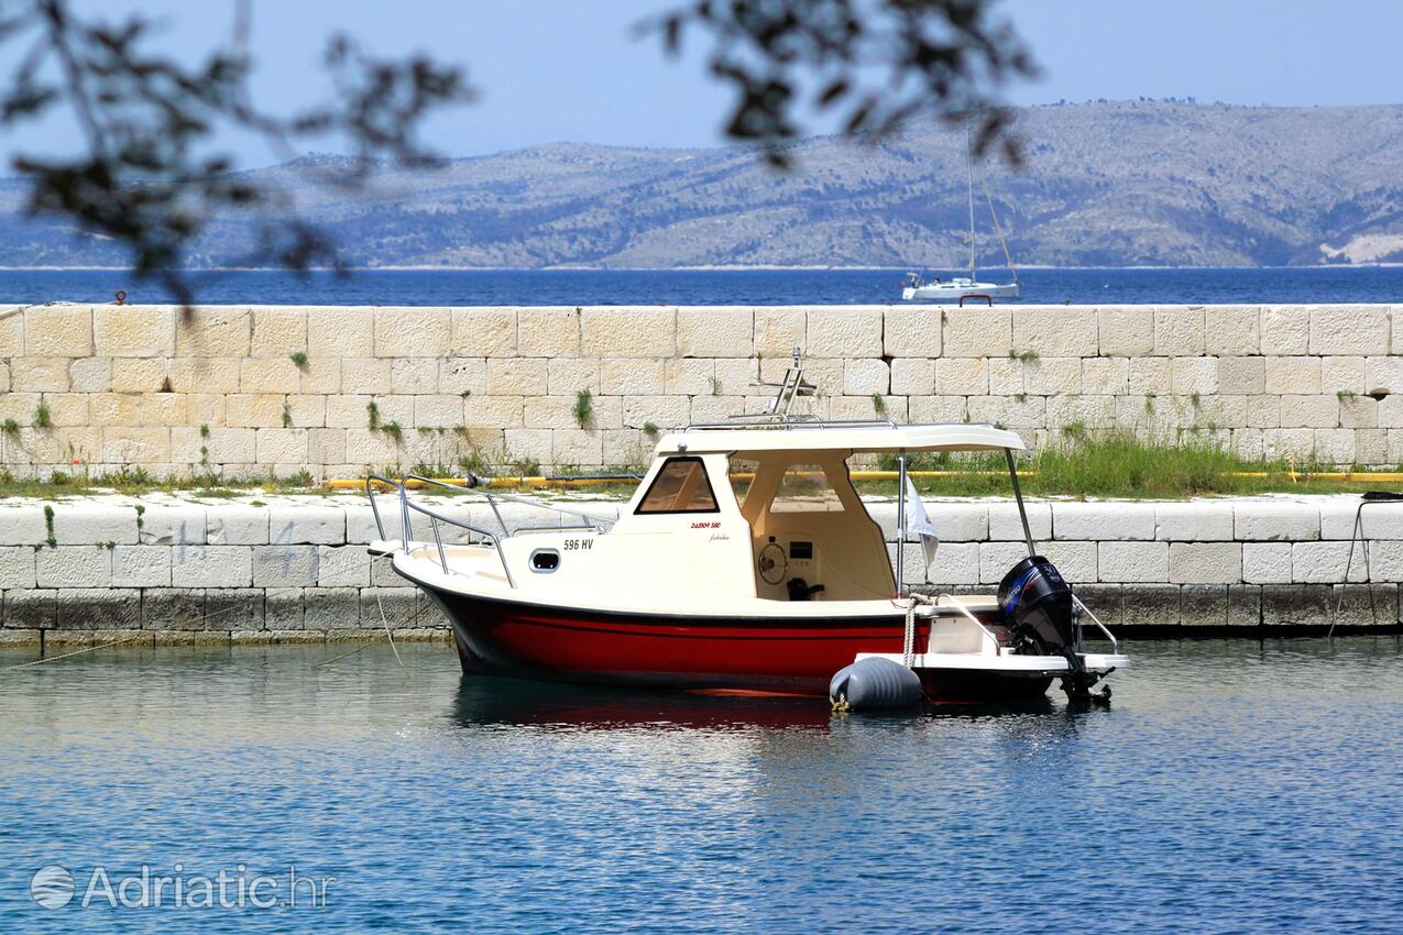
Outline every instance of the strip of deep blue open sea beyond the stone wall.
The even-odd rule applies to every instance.
[[[396,271],[344,279],[227,272],[194,282],[199,301],[212,304],[784,306],[901,297],[895,271]],[[1021,282],[1024,301],[1051,304],[1403,301],[1403,268],[1028,269]],[[118,290],[128,301],[171,300],[154,282],[121,271],[0,271],[3,301],[111,301]]]

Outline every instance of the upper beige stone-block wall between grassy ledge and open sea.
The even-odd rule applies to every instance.
[[[794,346],[832,418],[1214,437],[1403,463],[1403,307],[0,310],[0,465],[227,479],[637,464],[755,411]]]

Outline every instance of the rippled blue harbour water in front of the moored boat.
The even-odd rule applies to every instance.
[[[1110,709],[899,718],[463,680],[448,646],[0,671],[0,931],[1396,932],[1400,641],[1131,650]],[[177,862],[335,882],[79,906]],[[36,906],[45,865],[79,899]]]

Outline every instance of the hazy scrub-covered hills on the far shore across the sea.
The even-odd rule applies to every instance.
[[[989,165],[1030,265],[1403,262],[1403,107],[1103,102],[1026,108],[1020,171]],[[777,174],[744,149],[549,144],[369,189],[313,186],[318,160],[251,172],[300,192],[356,266],[958,266],[964,137],[912,128],[875,146],[819,137]],[[325,161],[325,160],[320,160]],[[1002,264],[978,189],[981,262]],[[109,244],[15,214],[0,182],[0,265],[112,265]],[[239,262],[220,221],[198,265]]]

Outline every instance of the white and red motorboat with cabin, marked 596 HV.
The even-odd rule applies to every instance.
[[[488,528],[411,496],[405,478],[390,482],[397,528],[376,506],[370,551],[391,555],[443,610],[469,674],[824,694],[840,669],[878,656],[913,671],[929,699],[995,701],[1040,697],[1054,680],[1089,697],[1128,664],[1038,555],[1017,486],[1017,435],[796,415],[794,400],[811,391],[797,355],[777,385],[765,414],[662,436],[617,520],[540,505],[557,520],[513,528],[499,503],[523,498],[488,491]],[[929,548],[929,527],[913,521],[925,509],[905,482],[906,457],[923,451],[1005,453],[1028,557],[998,592],[915,594],[894,573],[849,460],[897,456],[898,524]],[[1108,652],[1085,646],[1085,621]]]

